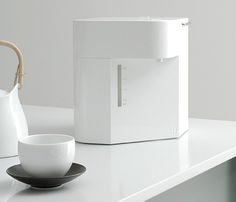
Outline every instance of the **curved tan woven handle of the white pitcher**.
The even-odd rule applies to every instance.
[[[16,75],[14,79],[14,86],[18,83],[19,84],[19,89],[22,88],[23,86],[23,76],[24,76],[24,61],[23,61],[23,56],[19,48],[17,46],[9,41],[5,40],[0,40],[0,46],[6,46],[8,48],[11,48],[12,50],[15,51],[17,57],[18,57],[18,67],[16,70]]]

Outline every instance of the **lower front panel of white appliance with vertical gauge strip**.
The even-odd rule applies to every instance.
[[[112,142],[178,136],[179,60],[111,60]]]

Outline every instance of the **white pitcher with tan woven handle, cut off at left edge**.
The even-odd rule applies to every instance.
[[[13,49],[19,60],[14,87],[10,92],[0,90],[0,158],[4,158],[18,154],[18,139],[28,135],[28,126],[18,97],[24,75],[22,54],[11,42],[0,40],[1,45]]]

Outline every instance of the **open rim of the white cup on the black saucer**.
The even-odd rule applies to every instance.
[[[37,143],[37,142],[28,142],[30,139],[36,139],[38,137],[59,137],[64,138],[61,141],[55,141],[55,142],[45,142],[45,143]],[[31,145],[31,146],[53,146],[53,145],[62,145],[66,144],[68,142],[75,141],[74,137],[70,135],[65,134],[32,134],[23,138],[20,138],[18,140],[19,143],[25,144],[25,145]]]

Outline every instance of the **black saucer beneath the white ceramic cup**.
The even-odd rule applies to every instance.
[[[23,182],[25,184],[31,185],[33,188],[48,189],[60,187],[61,185],[79,177],[86,171],[83,165],[73,163],[70,170],[62,177],[52,177],[52,178],[37,178],[30,177],[21,167],[20,164],[12,166],[7,169],[7,174],[11,177]]]

